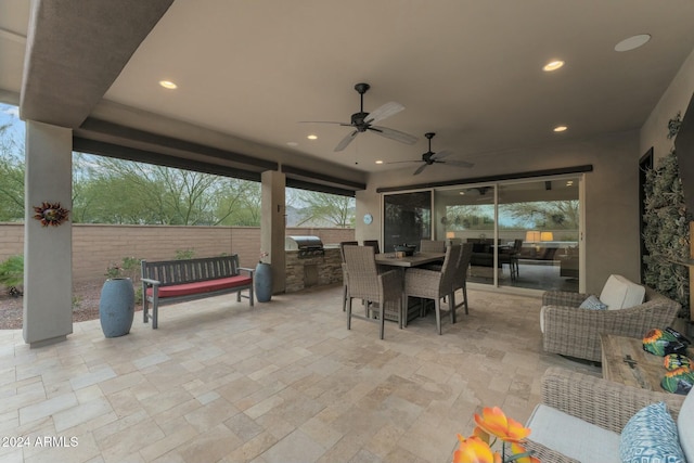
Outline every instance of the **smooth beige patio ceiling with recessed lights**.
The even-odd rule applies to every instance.
[[[27,5],[0,1],[10,93],[22,86]],[[364,171],[420,158],[428,131],[433,151],[479,164],[640,128],[694,49],[693,25],[691,0],[176,0],[104,99]],[[614,51],[637,34],[652,40]],[[543,73],[553,59],[566,65]],[[406,106],[378,125],[420,137],[415,145],[368,132],[334,153],[348,127],[299,124],[349,121],[357,82],[371,85],[367,112]],[[560,124],[568,130],[554,133]]]

